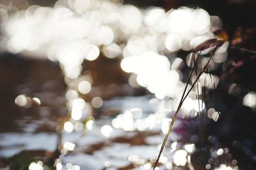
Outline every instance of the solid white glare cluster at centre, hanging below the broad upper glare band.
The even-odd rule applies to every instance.
[[[157,98],[175,97],[180,76],[177,71],[170,70],[170,61],[165,56],[145,52],[142,55],[125,57],[121,67],[127,73],[136,74],[137,83],[147,87]]]

